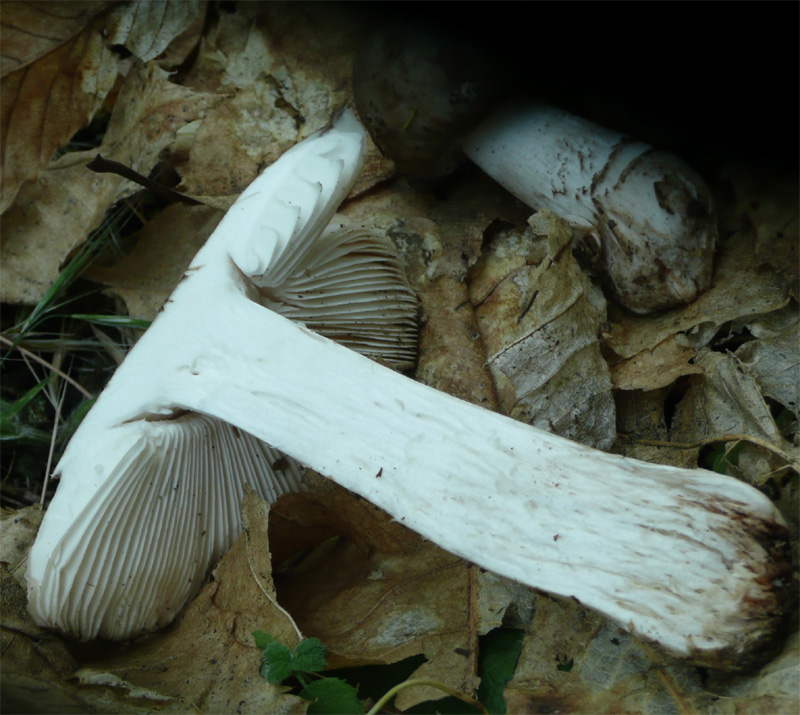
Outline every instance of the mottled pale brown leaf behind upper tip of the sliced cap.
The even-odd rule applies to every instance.
[[[223,13],[187,79],[191,86],[232,92],[196,128],[177,163],[185,190],[215,205],[238,195],[284,151],[327,126],[347,99],[358,23],[346,36],[334,35],[327,25],[341,12],[328,17],[323,4],[257,10]],[[368,142],[353,194],[393,170]]]

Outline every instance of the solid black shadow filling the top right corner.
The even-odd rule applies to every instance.
[[[351,6],[352,9],[352,6]],[[470,33],[512,85],[712,170],[797,171],[794,2],[364,3],[376,23]]]

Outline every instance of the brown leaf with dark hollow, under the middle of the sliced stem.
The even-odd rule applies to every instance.
[[[422,653],[427,662],[412,677],[462,692],[477,687],[474,567],[329,480],[282,497],[275,512],[295,530],[338,534],[284,566],[277,582],[281,604],[303,633],[328,648],[329,666],[394,663]],[[293,541],[308,543],[302,536]],[[397,706],[441,697],[415,688]]]

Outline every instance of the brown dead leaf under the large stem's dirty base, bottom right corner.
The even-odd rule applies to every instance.
[[[508,712],[794,713],[797,638],[757,674],[725,680],[664,655],[574,603],[537,596]]]

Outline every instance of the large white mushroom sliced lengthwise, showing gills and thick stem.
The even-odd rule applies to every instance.
[[[322,229],[364,142],[350,116],[297,145],[197,254],[59,465],[30,555],[36,621],[81,638],[168,622],[238,529],[241,484],[272,498],[295,483],[289,470],[267,486],[274,453],[263,440],[443,548],[579,599],[676,654],[719,667],[758,657],[788,589],[787,530],[759,491],[537,430],[265,307],[310,260],[340,250]],[[372,296],[347,310],[407,317]],[[222,460],[223,443],[242,450]]]

